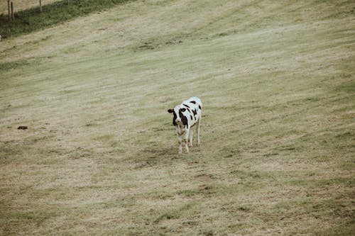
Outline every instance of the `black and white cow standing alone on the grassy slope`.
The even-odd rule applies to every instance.
[[[175,106],[175,108],[169,109],[168,113],[173,113],[173,125],[175,125],[176,135],[178,135],[180,145],[179,154],[182,153],[182,135],[184,135],[185,150],[189,153],[187,138],[190,135],[190,147],[192,147],[193,131],[191,128],[194,125],[197,125],[197,147],[200,146],[201,100],[196,96],[192,96],[190,99],[183,101],[180,105]]]

